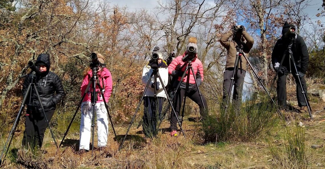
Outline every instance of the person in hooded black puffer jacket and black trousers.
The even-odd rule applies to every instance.
[[[58,104],[64,97],[64,90],[62,82],[57,74],[50,71],[50,57],[47,54],[40,54],[35,62],[38,72],[32,82],[32,73],[29,73],[24,81],[22,87],[22,94],[25,96],[29,91],[27,87],[30,83],[34,83],[44,107],[44,111],[48,121],[51,120],[56,104]],[[54,94],[56,92],[56,95]],[[27,113],[25,120],[25,131],[22,140],[23,146],[34,148],[36,146],[42,147],[44,132],[47,123],[38,102],[34,88],[29,92],[26,100]]]

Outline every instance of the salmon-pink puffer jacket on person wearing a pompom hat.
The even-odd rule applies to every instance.
[[[173,73],[173,71],[175,71],[176,66],[179,65],[180,67],[182,67],[186,62],[182,61],[182,58],[185,56],[185,53],[181,56],[177,56],[177,58],[175,58],[173,60],[173,62],[171,62],[168,66],[168,73],[169,74],[175,74],[175,72]],[[194,74],[196,76],[196,80],[198,82],[198,85],[201,85],[201,83],[203,82],[203,65],[202,62],[196,58],[192,61],[192,67],[194,69]],[[186,65],[182,68],[182,72],[185,71]],[[178,77],[178,81],[181,80],[181,76]],[[186,75],[183,79],[183,82],[186,83],[188,76]],[[194,80],[194,76],[192,71],[190,71],[190,76],[189,76],[189,83],[190,84],[195,84],[195,80]]]

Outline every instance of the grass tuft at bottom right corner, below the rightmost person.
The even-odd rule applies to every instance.
[[[272,147],[271,154],[279,168],[306,169],[305,130],[294,126],[293,131],[285,128],[284,147]]]

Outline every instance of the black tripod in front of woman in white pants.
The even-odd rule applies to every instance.
[[[90,78],[90,81],[87,85],[87,88],[85,90],[85,93],[84,95],[82,96],[80,102],[79,102],[79,105],[78,105],[78,108],[76,109],[73,117],[72,117],[72,120],[68,126],[68,129],[67,131],[64,133],[64,136],[62,138],[62,141],[59,145],[59,147],[62,145],[63,141],[64,141],[64,138],[67,136],[68,134],[68,131],[73,123],[73,120],[74,118],[76,117],[77,113],[78,113],[78,110],[86,96],[86,93],[88,93],[88,90],[89,90],[89,87],[90,85],[92,84],[92,89],[93,89],[93,93],[92,93],[92,98],[91,98],[91,103],[92,103],[92,106],[93,106],[93,118],[92,118],[92,124],[91,124],[91,127],[92,127],[92,130],[93,130],[93,133],[92,133],[92,150],[91,150],[91,156],[93,156],[93,151],[94,151],[94,132],[95,132],[95,106],[96,106],[96,102],[97,102],[97,92],[96,92],[96,81],[98,80],[98,77],[97,77],[97,73],[98,73],[98,66],[97,65],[91,65],[91,69],[92,69],[92,77]],[[98,82],[99,83],[99,82]],[[115,138],[116,138],[116,133],[115,133],[115,129],[114,129],[114,125],[113,125],[113,122],[112,122],[112,117],[110,115],[110,111],[108,110],[108,106],[107,106],[107,103],[106,103],[106,100],[105,100],[105,97],[104,97],[104,92],[103,92],[103,88],[100,87],[99,84],[97,84],[99,89],[100,89],[100,93],[101,93],[101,96],[103,98],[103,101],[104,101],[104,104],[105,104],[105,107],[106,107],[106,110],[107,110],[107,113],[108,113],[108,117],[110,118],[110,124],[112,125],[112,129],[113,129],[113,132],[114,132],[114,135],[115,135]]]

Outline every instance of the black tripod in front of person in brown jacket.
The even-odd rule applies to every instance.
[[[256,79],[260,82],[260,84],[262,85],[263,89],[266,91],[267,95],[271,98],[273,104],[276,105],[275,102],[274,102],[274,100],[272,99],[270,93],[267,91],[265,85],[263,84],[262,79],[258,76],[258,74],[256,73],[256,71],[253,69],[252,64],[251,64],[251,63],[249,62],[249,60],[247,59],[245,52],[242,51],[242,48],[243,48],[243,45],[237,45],[237,46],[236,46],[237,53],[236,53],[235,67],[234,67],[234,72],[233,72],[232,77],[231,77],[230,89],[229,89],[229,92],[228,92],[228,98],[227,98],[227,105],[225,106],[225,107],[226,107],[226,108],[225,108],[225,115],[226,115],[227,108],[228,108],[228,104],[229,104],[230,93],[231,93],[232,87],[233,87],[233,85],[234,85],[234,79],[235,79],[234,77],[235,77],[235,75],[237,76],[237,72],[238,72],[238,68],[239,68],[238,66],[239,66],[239,64],[240,64],[240,73],[242,73],[242,69],[241,69],[241,68],[242,68],[242,65],[241,65],[242,60],[241,60],[241,56],[244,56],[244,58],[246,59],[248,65],[249,65],[249,66],[251,67],[251,69],[253,70],[253,73],[254,73],[254,75],[256,76]],[[280,115],[281,117],[283,117],[283,116],[282,116],[282,113],[281,113],[280,110],[279,110],[279,108],[277,108],[277,110],[278,110],[278,112],[279,112],[279,115]]]

